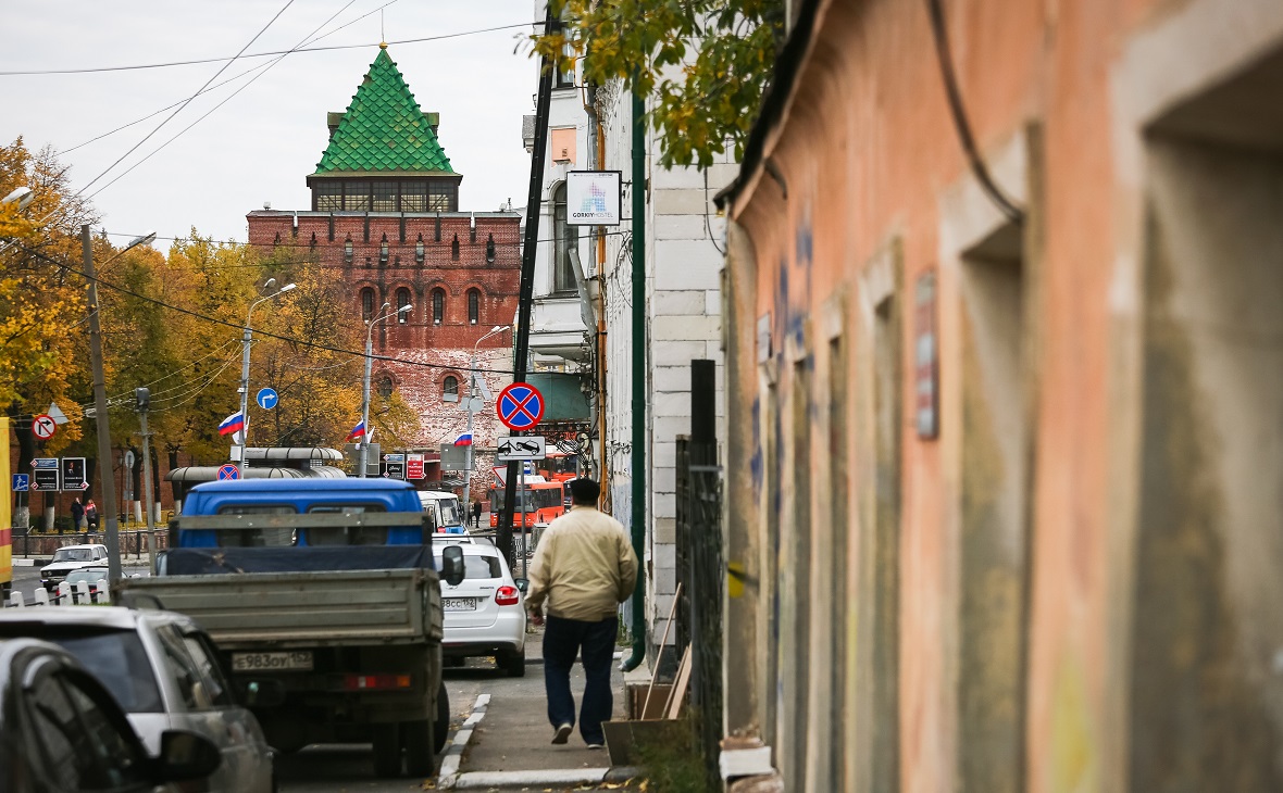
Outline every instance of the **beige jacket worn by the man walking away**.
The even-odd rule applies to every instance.
[[[590,506],[552,521],[530,566],[526,609],[595,623],[615,616],[638,579],[638,557],[624,525]]]

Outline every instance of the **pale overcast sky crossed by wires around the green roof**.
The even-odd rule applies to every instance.
[[[231,58],[254,38],[286,0],[40,0],[5,3],[0,24],[0,72],[132,67],[201,58]],[[216,240],[245,240],[245,214],[309,209],[305,177],[316,170],[328,129],[326,113],[344,110],[378,54],[378,41],[464,33],[529,23],[530,0],[294,0],[249,45],[254,53],[290,50],[380,6],[312,46],[355,49],[294,53],[266,72],[213,88],[191,101],[137,151],[90,186],[92,202],[119,245],[155,231],[185,236],[191,227]],[[337,17],[308,36],[332,14]],[[382,17],[382,31],[380,28]],[[530,159],[521,117],[534,113],[534,61],[522,46],[526,28],[390,44],[389,54],[425,111],[439,111],[439,137],[463,174],[459,210],[493,211],[512,199],[526,202]],[[213,85],[273,58],[232,63]],[[73,190],[108,170],[173,109],[103,140],[195,94],[226,61],[82,74],[0,74],[0,140],[22,136],[37,150],[63,152]],[[249,81],[260,74],[253,83]],[[227,104],[182,132],[214,105]],[[174,108],[177,109],[177,108]],[[119,181],[104,187],[174,135],[182,135]],[[155,247],[168,249],[159,240]]]

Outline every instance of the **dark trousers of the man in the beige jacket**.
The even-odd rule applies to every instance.
[[[553,726],[575,724],[575,696],[570,693],[570,667],[582,656],[584,703],[579,711],[579,734],[584,743],[606,743],[602,723],[615,710],[611,692],[611,661],[615,658],[616,617],[599,623],[549,616],[544,628],[544,689],[548,692],[548,721]]]

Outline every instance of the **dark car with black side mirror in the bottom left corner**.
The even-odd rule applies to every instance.
[[[0,790],[177,790],[222,764],[208,739],[168,730],[151,757],[121,706],[65,650],[0,639]]]

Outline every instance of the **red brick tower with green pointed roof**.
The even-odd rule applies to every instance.
[[[341,268],[349,305],[362,319],[380,315],[385,302],[412,306],[376,328],[375,352],[407,363],[376,360],[371,388],[400,392],[420,416],[413,445],[438,448],[466,428],[459,397],[473,345],[495,325],[513,323],[521,217],[458,211],[463,177],[438,141],[438,114],[420,109],[387,45],[380,45],[348,109],[327,122],[330,143],[308,177],[310,210],[254,210],[249,241],[267,250],[312,250],[322,264]],[[479,369],[508,370],[511,359],[511,333],[477,348]],[[493,393],[512,379],[480,377]],[[477,496],[489,487],[502,429],[489,407],[473,424]]]

